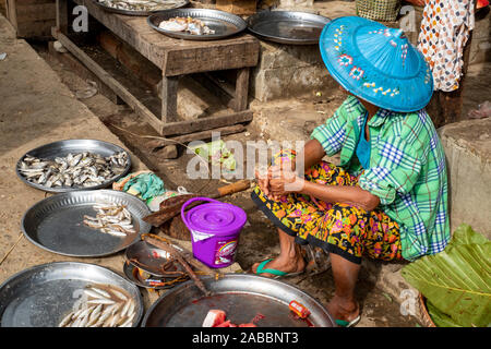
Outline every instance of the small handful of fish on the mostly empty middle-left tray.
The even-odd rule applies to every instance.
[[[116,237],[127,237],[136,232],[132,225],[131,213],[125,205],[96,204],[93,208],[97,215],[95,217],[85,215],[84,225]]]

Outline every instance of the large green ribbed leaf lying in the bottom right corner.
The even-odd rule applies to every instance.
[[[442,326],[491,324],[491,241],[469,226],[454,232],[445,251],[408,264],[402,274]]]

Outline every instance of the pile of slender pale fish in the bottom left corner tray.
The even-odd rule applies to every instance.
[[[104,289],[103,289],[104,288]],[[122,290],[113,287],[85,288],[83,298],[58,327],[131,327],[135,303]]]

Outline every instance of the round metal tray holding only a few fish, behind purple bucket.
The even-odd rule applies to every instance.
[[[86,227],[84,215],[95,216],[96,203],[127,205],[135,233],[124,238],[103,233]],[[35,245],[49,252],[96,257],[117,253],[140,240],[152,226],[142,218],[149,215],[148,206],[131,194],[115,190],[75,191],[60,193],[34,204],[22,217],[22,231]]]

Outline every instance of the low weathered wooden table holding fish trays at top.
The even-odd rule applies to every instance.
[[[86,7],[97,22],[128,43],[143,57],[161,69],[161,115],[156,116],[124,86],[100,68],[69,37],[71,8],[69,2]],[[231,38],[192,41],[170,38],[153,29],[145,16],[129,16],[107,12],[93,0],[57,0],[57,26],[52,35],[124,103],[161,135],[179,135],[232,125],[252,120],[248,109],[249,69],[258,64],[260,45],[256,38],[239,34]],[[88,28],[91,31],[91,28]],[[237,70],[232,88],[220,86],[231,95],[232,113],[179,121],[177,88],[181,75]],[[219,85],[219,84],[218,84]]]

